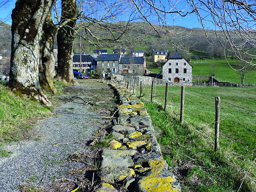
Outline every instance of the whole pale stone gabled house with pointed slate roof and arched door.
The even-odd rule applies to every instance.
[[[176,51],[163,66],[166,82],[192,82],[192,65]]]

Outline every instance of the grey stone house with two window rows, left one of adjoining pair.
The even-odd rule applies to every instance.
[[[97,67],[102,67],[104,71],[118,73],[120,54],[101,54],[97,58]]]

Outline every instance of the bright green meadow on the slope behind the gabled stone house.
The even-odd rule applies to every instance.
[[[233,70],[226,60],[191,60],[190,64],[193,66],[192,75],[193,76],[210,76],[209,74],[209,66],[214,63],[216,68],[216,79],[219,79],[222,82],[233,82],[239,83],[241,82],[239,74]],[[237,63],[236,60],[229,60],[229,63],[232,67]],[[159,73],[162,69],[158,69],[157,67],[147,67],[152,73]],[[193,82],[197,82],[198,79],[193,79]],[[202,80],[209,81],[208,79]],[[244,83],[254,84],[256,82],[256,69],[252,72],[250,77],[246,77]]]

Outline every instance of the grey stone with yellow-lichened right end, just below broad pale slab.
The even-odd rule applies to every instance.
[[[119,182],[134,174],[135,172],[127,167],[102,167],[97,171],[97,175],[105,182]]]

